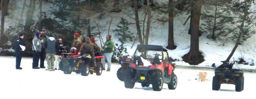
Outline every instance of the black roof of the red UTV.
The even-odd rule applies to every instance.
[[[138,48],[143,48],[143,49],[147,49],[147,50],[151,50],[151,51],[164,51],[167,52],[167,50],[160,45],[145,45],[145,44],[138,44],[137,45],[137,49]]]

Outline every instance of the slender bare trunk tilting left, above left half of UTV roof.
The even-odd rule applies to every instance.
[[[134,4],[134,9],[135,9],[135,21],[136,21],[136,28],[137,28],[137,34],[139,37],[139,43],[140,44],[144,44],[143,40],[142,40],[142,31],[140,31],[140,26],[139,26],[139,15],[138,15],[138,2],[137,1],[133,1]]]

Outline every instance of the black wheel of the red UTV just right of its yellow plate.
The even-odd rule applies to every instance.
[[[163,88],[163,78],[161,75],[155,75],[152,78],[153,91],[161,91]]]

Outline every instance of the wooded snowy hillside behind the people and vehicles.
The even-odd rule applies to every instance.
[[[237,46],[255,34],[256,12],[252,5],[255,5],[254,0],[1,0],[0,55],[15,56],[14,41],[17,34],[24,33],[25,56],[31,57],[34,33],[45,28],[47,34],[65,38],[64,43],[68,47],[74,32],[99,38],[99,46],[104,40],[102,36],[114,35],[120,41],[113,55],[116,59],[129,49],[123,46],[127,42],[134,42],[129,46],[134,47],[137,42],[149,44],[150,41],[159,40],[149,38],[149,34],[157,35],[151,32],[154,23],[168,25],[167,45],[164,47],[175,50],[174,19],[187,16],[183,25],[189,26],[190,50],[182,56],[182,60],[190,65],[203,62],[199,37],[208,34],[209,40],[223,42],[223,46],[227,41],[236,42],[226,58],[229,61]],[[121,14],[126,17],[116,16]],[[102,23],[108,28],[101,28]],[[129,28],[136,28],[136,31],[130,31]],[[243,58],[238,61],[244,62]]]

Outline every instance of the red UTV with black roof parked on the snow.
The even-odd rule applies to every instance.
[[[166,83],[170,90],[175,90],[178,83],[174,74],[176,65],[169,61],[169,54],[163,46],[139,44],[133,57],[129,68],[123,71],[126,88],[133,88],[138,82],[142,87],[152,84],[154,91],[161,91]]]

